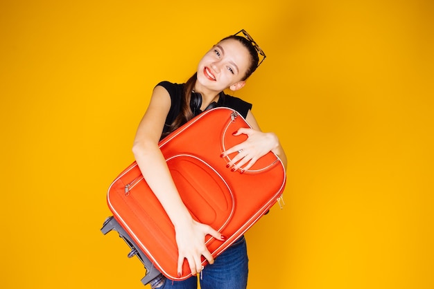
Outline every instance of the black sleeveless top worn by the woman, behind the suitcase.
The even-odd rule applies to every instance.
[[[160,82],[157,86],[162,86],[166,88],[168,94],[171,96],[171,109],[167,114],[166,122],[164,123],[163,133],[166,133],[168,127],[172,124],[178,114],[181,112],[181,97],[182,91],[184,90],[184,84],[177,84],[172,82]],[[252,109],[252,104],[241,100],[241,98],[234,97],[232,95],[227,95],[222,93],[218,98],[217,107],[229,107],[229,109],[234,109],[238,111],[243,118],[247,117],[248,111]]]

